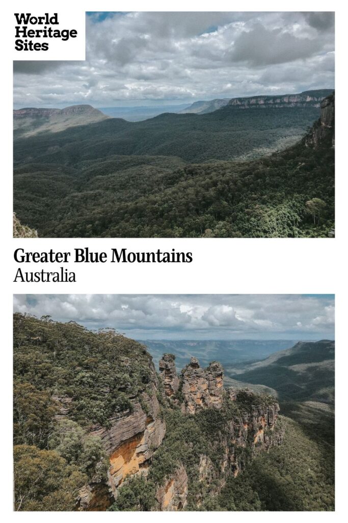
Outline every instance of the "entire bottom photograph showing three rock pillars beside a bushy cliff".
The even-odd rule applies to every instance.
[[[14,510],[334,510],[334,295],[14,295]]]

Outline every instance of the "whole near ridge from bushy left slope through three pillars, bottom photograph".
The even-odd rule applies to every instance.
[[[226,394],[217,362],[201,369],[193,359],[178,379],[173,357],[163,361],[175,386],[134,340],[14,315],[17,510],[105,510],[134,484],[145,485],[151,508],[180,510],[201,502],[197,474],[215,495],[254,454],[281,443],[274,398]],[[175,451],[166,419],[195,427],[186,434],[194,451],[184,435]]]

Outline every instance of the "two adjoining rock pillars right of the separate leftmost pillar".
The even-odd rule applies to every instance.
[[[192,357],[182,370],[183,411],[195,414],[199,408],[221,408],[223,391],[223,368],[214,361],[207,369],[199,366]]]

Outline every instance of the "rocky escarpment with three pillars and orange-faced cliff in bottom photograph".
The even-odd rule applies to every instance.
[[[81,490],[81,509],[102,510],[113,502],[122,506],[117,504],[123,488],[137,488],[136,478],[154,489],[152,509],[199,507],[207,496],[217,496],[227,478],[243,471],[257,452],[282,442],[278,403],[249,389],[224,390],[219,362],[202,368],[193,357],[178,376],[175,357],[164,354],[159,381],[155,374],[152,379],[152,393],[142,393],[131,410],[110,418],[109,428],[91,428],[110,466],[104,486],[95,482]],[[169,433],[161,411],[169,416]]]

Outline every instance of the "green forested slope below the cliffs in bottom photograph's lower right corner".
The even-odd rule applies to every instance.
[[[284,418],[280,447],[259,453],[227,480],[215,510],[334,510],[333,452]]]

